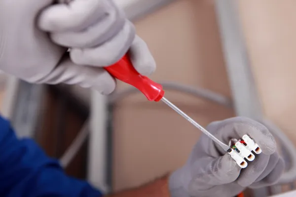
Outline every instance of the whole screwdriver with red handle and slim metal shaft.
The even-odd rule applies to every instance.
[[[164,97],[164,90],[162,86],[148,77],[141,75],[136,71],[134,66],[132,65],[128,55],[123,56],[117,63],[111,66],[105,67],[105,69],[116,79],[128,83],[138,90],[140,90],[149,101],[162,101],[175,110],[178,114],[180,114],[183,118],[189,121],[192,125],[198,128],[200,131],[205,133],[208,137],[210,137],[214,142],[222,147],[224,151],[230,152],[231,149],[229,146],[220,141],[217,137],[215,137],[212,133],[204,129],[201,125],[195,122],[192,118],[190,118],[187,114],[185,114],[181,109],[179,109],[176,105],[170,102],[168,99]]]

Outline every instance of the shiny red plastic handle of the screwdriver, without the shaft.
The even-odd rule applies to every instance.
[[[116,79],[136,87],[150,101],[159,101],[164,96],[162,86],[137,72],[127,55],[105,69]]]

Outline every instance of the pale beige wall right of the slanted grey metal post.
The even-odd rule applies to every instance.
[[[240,0],[242,27],[266,116],[295,142],[296,1]]]

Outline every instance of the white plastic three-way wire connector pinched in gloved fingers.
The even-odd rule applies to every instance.
[[[262,152],[262,150],[258,144],[249,137],[249,135],[244,135],[242,138],[243,140],[231,139],[229,141],[231,151],[228,152],[228,154],[241,168],[245,168],[248,166],[246,160],[249,162],[255,160],[256,156],[252,153],[252,151],[258,155]]]

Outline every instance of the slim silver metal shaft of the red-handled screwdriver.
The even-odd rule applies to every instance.
[[[204,129],[201,125],[199,125],[197,122],[195,122],[192,118],[190,118],[187,114],[185,114],[181,109],[179,109],[176,105],[174,105],[172,102],[170,102],[166,98],[162,98],[161,101],[163,101],[165,104],[167,104],[169,107],[174,109],[178,114],[183,116],[187,121],[189,121],[192,125],[194,125],[197,129],[208,135],[213,141],[215,141],[218,145],[222,147],[224,151],[229,151],[229,146],[224,144],[222,141],[220,141],[217,137],[215,137],[212,133]]]

